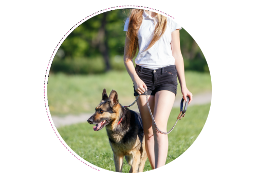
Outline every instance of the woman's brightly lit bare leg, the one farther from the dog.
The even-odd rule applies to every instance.
[[[175,94],[168,90],[161,90],[156,92],[154,119],[157,127],[162,132],[167,132],[167,123],[170,116]],[[150,115],[150,114],[149,114]],[[170,127],[171,128],[171,127]],[[155,125],[153,125],[154,140],[155,140],[155,170],[164,167],[168,155],[168,135],[158,133]]]

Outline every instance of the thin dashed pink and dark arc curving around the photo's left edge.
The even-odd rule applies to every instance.
[[[171,15],[168,15],[168,14],[163,13],[163,12],[161,12],[161,11],[155,10],[155,9],[153,9],[153,8],[146,8],[146,7],[139,7],[139,6],[119,6],[119,7],[114,7],[114,8],[108,8],[108,9],[105,9],[105,10],[102,10],[102,11],[98,11],[98,12],[96,12],[96,13],[93,14],[93,15],[96,15],[96,14],[99,14],[99,13],[101,13],[101,12],[105,12],[105,11],[108,11],[108,10],[120,9],[120,8],[143,8],[143,9],[150,9],[150,10],[154,10],[154,11],[156,11],[156,12],[162,13],[162,14],[164,14],[164,15],[167,15],[167,16],[169,16],[169,17],[171,17],[171,18],[173,18],[173,19],[175,20],[175,18],[172,17]],[[60,41],[60,43],[58,44],[58,46],[56,47],[56,49],[55,49],[54,52],[52,53],[52,56],[51,56],[51,58],[50,58],[50,60],[49,60],[49,64],[48,64],[46,76],[45,76],[45,83],[44,83],[44,100],[45,100],[45,105],[46,105],[46,110],[47,110],[47,115],[48,115],[48,118],[49,118],[49,122],[50,122],[50,124],[51,124],[51,126],[52,126],[52,128],[53,128],[53,130],[54,130],[55,135],[57,135],[58,139],[59,139],[60,142],[64,145],[64,147],[67,149],[67,151],[68,151],[71,155],[73,155],[76,159],[78,159],[78,161],[82,162],[83,164],[87,165],[88,167],[90,167],[90,168],[93,169],[93,170],[96,170],[96,171],[98,171],[98,172],[101,172],[100,170],[97,170],[97,169],[95,169],[94,167],[92,167],[92,166],[86,164],[85,162],[83,162],[82,160],[80,160],[80,159],[79,159],[77,156],[75,156],[75,155],[69,150],[69,148],[66,147],[66,145],[62,142],[62,140],[60,139],[58,133],[55,131],[55,129],[54,129],[54,127],[53,127],[53,124],[52,124],[52,122],[51,122],[51,119],[50,119],[50,116],[49,116],[49,112],[48,112],[48,107],[47,107],[46,95],[45,95],[47,76],[48,76],[48,72],[49,72],[50,63],[51,63],[51,61],[52,61],[52,58],[54,57],[54,54],[56,53],[57,49],[59,48],[59,46],[60,46],[60,44],[63,42],[63,40],[65,40],[65,38],[66,38],[66,36],[68,35],[68,33],[70,33],[72,30],[74,30],[75,28],[77,28],[77,26],[80,25],[80,23],[83,23],[85,20],[87,20],[88,18],[90,18],[90,17],[93,16],[93,15],[90,15],[90,16],[84,18],[84,20],[82,20],[81,22],[79,22],[77,25],[73,26],[73,27],[66,33],[66,35],[62,38],[62,40]]]

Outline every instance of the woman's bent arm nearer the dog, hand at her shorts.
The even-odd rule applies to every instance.
[[[126,55],[125,55],[126,54],[126,46],[128,46],[128,42],[129,42],[129,39],[127,38],[127,35],[126,35],[125,47],[124,47],[124,58],[123,58],[124,65],[125,65],[125,67],[127,69],[127,72],[130,75],[130,77],[131,77],[131,79],[134,83],[135,90],[140,95],[140,94],[143,94],[145,92],[144,88],[146,88],[146,90],[147,90],[147,87],[146,87],[145,83],[138,77],[138,75],[135,71],[132,59],[126,57]]]

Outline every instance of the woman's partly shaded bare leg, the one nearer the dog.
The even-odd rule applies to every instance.
[[[152,115],[154,114],[155,96],[147,96]],[[141,115],[144,135],[146,154],[149,158],[152,170],[155,170],[155,153],[154,153],[154,136],[152,129],[152,118],[146,105],[146,96],[139,96],[137,101],[139,112]]]

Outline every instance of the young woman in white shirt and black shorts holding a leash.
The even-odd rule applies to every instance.
[[[146,105],[145,89],[149,105],[162,132],[167,132],[168,118],[177,90],[177,76],[183,99],[192,93],[186,87],[183,58],[180,50],[181,26],[156,12],[131,9],[124,26],[126,32],[124,64],[134,84],[134,96],[140,95],[137,104],[143,122],[147,156],[153,170],[165,165],[168,154],[168,135],[160,134],[152,125]],[[132,59],[138,49],[135,59]]]

